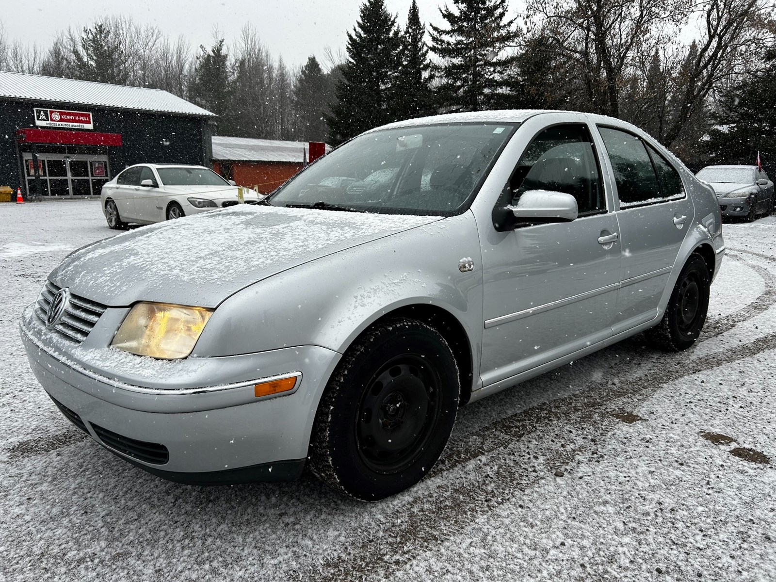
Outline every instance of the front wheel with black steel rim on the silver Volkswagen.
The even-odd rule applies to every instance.
[[[435,328],[403,317],[370,327],[321,397],[310,469],[363,501],[411,487],[442,455],[460,390],[456,359]]]

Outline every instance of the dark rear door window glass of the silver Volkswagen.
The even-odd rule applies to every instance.
[[[621,208],[684,197],[678,172],[653,147],[626,131],[598,129],[615,171]]]

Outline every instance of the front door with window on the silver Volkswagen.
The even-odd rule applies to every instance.
[[[528,190],[566,192],[579,217],[482,237],[483,386],[611,336],[621,259],[600,168],[582,123],[540,130],[517,162],[500,205]]]

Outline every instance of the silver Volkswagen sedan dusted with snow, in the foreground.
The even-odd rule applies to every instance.
[[[712,189],[584,113],[363,133],[262,206],[69,255],[21,323],[40,383],[106,449],[183,483],[410,487],[457,407],[639,331],[693,344],[724,252]]]

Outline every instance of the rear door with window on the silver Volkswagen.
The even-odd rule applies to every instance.
[[[622,282],[612,327],[617,334],[657,316],[695,208],[678,171],[656,148],[621,128],[598,130],[618,198]]]

